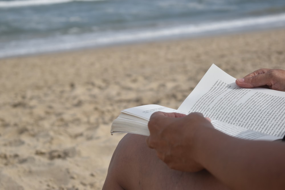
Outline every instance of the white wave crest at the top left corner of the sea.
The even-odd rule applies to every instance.
[[[24,0],[24,1],[0,1],[0,8],[13,8],[24,6],[40,6],[74,1],[106,1],[106,0]]]

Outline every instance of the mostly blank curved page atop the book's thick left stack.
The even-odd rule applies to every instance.
[[[185,112],[178,111],[176,109],[172,109],[172,108],[168,108],[168,107],[164,107],[164,106],[160,106],[160,105],[155,105],[155,104],[143,105],[143,106],[137,106],[137,107],[124,109],[122,111],[122,113],[134,115],[134,116],[137,116],[139,118],[149,120],[152,113],[157,112],[157,111],[162,111],[162,112],[166,112],[166,113],[176,112],[176,113],[186,114]]]

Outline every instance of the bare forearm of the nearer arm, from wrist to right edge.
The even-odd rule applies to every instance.
[[[241,140],[207,129],[195,144],[197,161],[231,189],[285,187],[285,143]]]

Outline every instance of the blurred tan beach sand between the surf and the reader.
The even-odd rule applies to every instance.
[[[101,189],[125,108],[178,108],[215,63],[285,69],[285,30],[0,60],[0,189]]]

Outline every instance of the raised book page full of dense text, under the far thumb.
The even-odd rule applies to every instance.
[[[214,64],[178,110],[200,112],[227,122],[282,138],[285,134],[285,92],[245,89]]]

